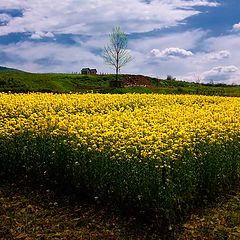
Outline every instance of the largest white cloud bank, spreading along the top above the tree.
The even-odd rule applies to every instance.
[[[0,9],[21,9],[23,15],[0,27],[0,35],[12,32],[101,34],[113,25],[127,32],[146,32],[175,26],[199,14],[196,7],[216,7],[210,0],[1,0]]]

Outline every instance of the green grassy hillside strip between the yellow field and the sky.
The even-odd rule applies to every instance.
[[[144,76],[121,75],[124,88],[112,89],[114,75],[86,76],[79,74],[33,74],[1,72],[0,91],[12,92],[100,92],[100,93],[163,93],[240,96],[240,86],[202,85],[175,80],[160,80]]]

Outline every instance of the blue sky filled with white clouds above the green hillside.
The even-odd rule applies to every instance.
[[[120,26],[134,61],[122,73],[240,84],[239,0],[1,0],[0,65],[113,73],[101,57]]]

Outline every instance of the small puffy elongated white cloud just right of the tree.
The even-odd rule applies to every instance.
[[[164,50],[152,49],[152,55],[157,58],[185,58],[193,56],[191,51],[182,48],[166,48]]]

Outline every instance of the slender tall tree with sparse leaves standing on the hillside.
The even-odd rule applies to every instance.
[[[104,47],[103,59],[116,70],[116,81],[120,69],[133,59],[127,49],[127,43],[125,32],[121,32],[120,27],[115,27],[109,34],[109,44]]]

